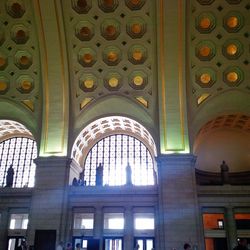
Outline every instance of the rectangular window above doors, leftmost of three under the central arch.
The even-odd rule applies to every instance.
[[[93,229],[94,214],[93,213],[76,213],[74,215],[74,229]]]

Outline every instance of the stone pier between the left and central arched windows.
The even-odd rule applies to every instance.
[[[56,230],[57,242],[65,237],[70,162],[67,157],[55,156],[35,160],[36,182],[28,234],[30,245],[34,244],[37,229]]]

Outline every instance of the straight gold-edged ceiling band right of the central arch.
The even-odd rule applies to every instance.
[[[186,116],[186,1],[158,3],[159,132],[162,154],[188,153]]]

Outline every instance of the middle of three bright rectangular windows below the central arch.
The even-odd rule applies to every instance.
[[[105,213],[104,229],[123,229],[124,217],[123,213]]]

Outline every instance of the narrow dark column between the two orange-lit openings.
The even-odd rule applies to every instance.
[[[233,249],[237,245],[237,229],[234,219],[233,207],[230,206],[226,208],[225,218],[229,244],[228,249]]]

